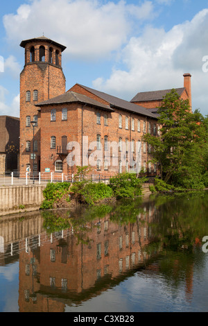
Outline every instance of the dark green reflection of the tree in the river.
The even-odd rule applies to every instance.
[[[164,250],[157,261],[168,286],[175,289],[186,282],[186,294],[190,299],[193,282],[193,266],[197,261],[202,266],[205,255],[200,248],[200,239],[208,234],[208,192],[191,192],[176,196],[155,198],[157,211],[153,223],[155,242]],[[151,249],[154,243],[148,246]]]

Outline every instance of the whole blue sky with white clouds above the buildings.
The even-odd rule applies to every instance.
[[[2,1],[0,114],[19,116],[19,44],[43,33],[67,46],[67,89],[80,83],[130,101],[137,92],[183,87],[189,72],[193,110],[208,114],[207,31],[205,0]]]

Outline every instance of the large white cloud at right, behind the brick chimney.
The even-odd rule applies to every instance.
[[[123,49],[125,69],[112,69],[107,80],[102,76],[94,80],[94,87],[130,100],[137,92],[183,87],[182,75],[189,72],[193,110],[200,108],[207,114],[208,74],[202,71],[202,58],[208,55],[207,29],[207,9],[168,32],[147,27]]]

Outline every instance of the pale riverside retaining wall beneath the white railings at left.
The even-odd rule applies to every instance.
[[[0,216],[40,208],[46,185],[0,187]]]

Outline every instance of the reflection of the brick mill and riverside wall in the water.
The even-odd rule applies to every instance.
[[[145,246],[150,241],[148,220],[152,215],[153,210],[147,210],[138,214],[135,223],[126,225],[106,216],[83,225],[78,232],[69,228],[53,234],[43,230],[40,214],[5,221],[0,261],[3,265],[13,257],[10,250],[15,240],[19,311],[64,311],[65,304],[79,304],[119,284],[149,257]]]

